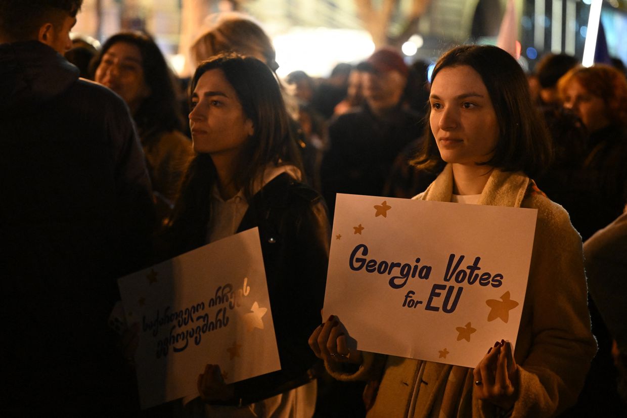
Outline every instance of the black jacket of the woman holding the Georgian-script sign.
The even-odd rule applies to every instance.
[[[316,358],[307,340],[320,325],[330,244],[322,197],[285,173],[252,197],[237,232],[253,227],[259,227],[281,370],[237,382],[232,401],[244,404],[311,379]],[[176,252],[206,244],[206,233],[206,226],[198,228]]]

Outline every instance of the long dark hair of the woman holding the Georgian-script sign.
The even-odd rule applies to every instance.
[[[283,103],[277,80],[265,63],[252,57],[221,54],[203,61],[189,85],[190,97],[201,76],[221,70],[233,86],[243,112],[253,122],[253,135],[243,145],[233,179],[247,199],[253,195],[253,182],[268,164],[295,165],[302,171],[300,154],[290,132],[290,117]],[[191,102],[190,102],[191,104]],[[211,191],[217,173],[209,154],[198,154],[189,165],[174,206],[169,226],[181,243],[206,231],[211,211]],[[198,244],[198,243],[195,243]],[[185,244],[182,244],[185,246]],[[194,246],[194,243],[190,244]]]

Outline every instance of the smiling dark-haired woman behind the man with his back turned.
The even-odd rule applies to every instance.
[[[159,46],[139,32],[122,32],[105,41],[94,57],[94,80],[129,105],[162,221],[172,209],[182,173],[192,157],[182,132],[177,86]]]

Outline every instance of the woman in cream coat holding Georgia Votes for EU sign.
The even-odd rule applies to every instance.
[[[369,417],[559,414],[577,400],[596,343],[579,234],[530,179],[550,148],[525,75],[500,48],[459,46],[436,64],[429,103],[416,164],[440,174],[414,199],[538,210],[515,353],[500,340],[472,369],[350,351],[339,318],[316,328],[310,347],[336,379],[369,381]]]

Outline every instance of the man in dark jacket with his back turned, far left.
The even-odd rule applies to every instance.
[[[2,416],[134,407],[107,320],[149,256],[150,180],[124,101],[61,56],[81,4],[0,1]]]

